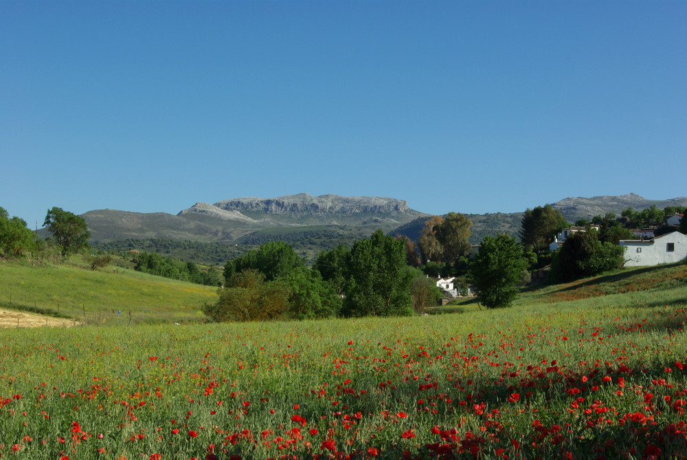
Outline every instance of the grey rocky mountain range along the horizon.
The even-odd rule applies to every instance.
[[[569,197],[552,203],[568,221],[591,219],[613,212],[666,206],[687,206],[687,197],[651,200],[630,193],[620,196]],[[535,205],[538,206],[538,205]],[[532,206],[534,207],[534,206]],[[460,210],[456,210],[460,212]],[[524,211],[524,210],[523,210]],[[466,214],[473,226],[471,243],[487,234],[517,234],[523,212]],[[306,193],[277,198],[244,197],[215,204],[196,203],[177,215],[165,212],[92,210],[82,215],[91,232],[91,243],[112,247],[117,241],[142,239],[187,240],[200,243],[256,245],[282,240],[305,256],[339,243],[352,243],[381,228],[416,240],[431,215],[413,210],[401,199],[383,197],[312,196]]]

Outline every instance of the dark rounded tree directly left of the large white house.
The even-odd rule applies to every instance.
[[[622,267],[625,248],[600,241],[599,232],[575,232],[554,252],[550,280],[570,281]]]

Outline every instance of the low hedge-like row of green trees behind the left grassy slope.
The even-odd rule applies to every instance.
[[[138,254],[134,270],[206,286],[221,285],[218,270],[211,268],[205,272],[199,270],[198,266],[193,262],[180,261],[173,257],[163,257],[155,254],[155,252],[141,252]]]

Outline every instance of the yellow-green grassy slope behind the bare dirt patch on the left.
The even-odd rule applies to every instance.
[[[115,311],[108,323],[203,319],[201,305],[216,288],[161,278],[121,267],[92,272],[70,265],[0,261],[0,304],[59,310],[67,316]],[[10,300],[12,305],[10,305]],[[116,312],[121,311],[121,316]],[[110,316],[110,315],[109,315]]]

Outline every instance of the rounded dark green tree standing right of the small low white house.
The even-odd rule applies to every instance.
[[[515,238],[508,234],[484,237],[470,270],[482,304],[509,307],[517,297],[527,265],[523,247]]]

